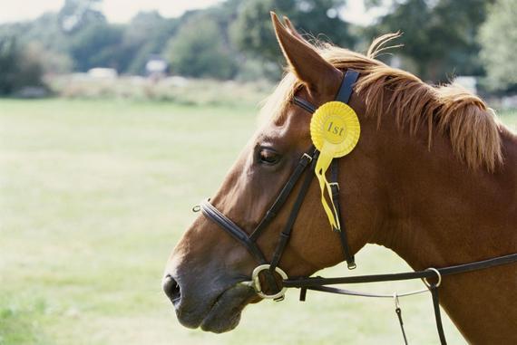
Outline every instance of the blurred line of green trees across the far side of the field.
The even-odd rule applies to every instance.
[[[154,55],[170,63],[172,74],[187,77],[275,79],[283,62],[271,10],[288,15],[301,33],[363,52],[374,37],[400,31],[397,43],[404,46],[392,53],[425,81],[474,75],[488,89],[515,90],[517,84],[514,0],[394,0],[387,7],[366,0],[385,13],[366,27],[341,17],[345,0],[227,0],[178,18],[142,12],[127,24],[109,23],[101,4],[66,0],[57,13],[0,25],[0,93],[40,84],[44,73],[108,67],[144,74]]]

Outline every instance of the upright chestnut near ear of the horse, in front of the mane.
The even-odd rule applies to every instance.
[[[282,53],[298,79],[307,85],[309,91],[336,92],[343,73],[303,40],[288,19],[286,20],[288,28],[280,23],[274,12],[271,12],[271,20]]]

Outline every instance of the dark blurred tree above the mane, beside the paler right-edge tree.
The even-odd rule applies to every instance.
[[[489,2],[488,2],[489,3]],[[395,2],[372,35],[401,31],[400,53],[424,80],[447,81],[454,74],[483,73],[476,36],[486,14],[485,0]]]

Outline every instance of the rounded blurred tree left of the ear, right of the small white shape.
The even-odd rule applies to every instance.
[[[208,16],[192,16],[182,25],[167,55],[171,71],[184,76],[230,79],[237,72],[219,25]]]

